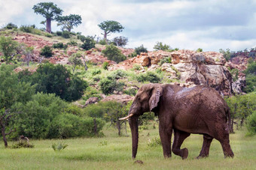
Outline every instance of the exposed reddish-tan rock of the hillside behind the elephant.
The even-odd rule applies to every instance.
[[[69,45],[66,50],[53,49],[53,57],[42,58],[40,56],[41,48],[44,46],[52,46],[53,43],[62,42],[62,40],[56,40],[46,37],[40,37],[33,34],[14,34],[13,40],[19,43],[25,43],[27,46],[34,47],[34,54],[32,61],[41,62],[43,60],[49,60],[53,64],[69,64],[68,58],[75,52],[84,51],[78,46]],[[128,56],[134,52],[133,49],[120,48],[122,53],[126,55],[126,61],[119,64],[114,61],[109,61],[102,55],[102,49],[105,46],[96,44],[96,48],[90,49],[84,52],[87,61],[101,66],[105,61],[108,61],[110,66],[109,71],[114,70],[134,70],[133,67],[139,67],[138,70],[134,70],[136,74],[145,73],[147,71],[161,70],[164,72],[165,80],[162,83],[173,83],[184,87],[193,87],[194,85],[208,85],[215,88],[223,96],[229,96],[233,91],[236,93],[242,93],[242,88],[245,85],[245,75],[242,70],[246,69],[248,58],[241,58],[239,56],[233,58],[231,61],[226,62],[224,56],[219,52],[195,52],[191,50],[178,50],[174,52],[154,51],[148,53],[141,53],[134,58],[128,58]],[[23,56],[22,56],[23,57]],[[167,60],[166,60],[167,58]],[[229,68],[237,68],[239,70],[239,79],[233,82],[232,75]],[[17,68],[17,71],[23,70]],[[130,82],[127,82],[130,83]],[[97,87],[98,84],[94,86]],[[105,98],[105,97],[103,97]],[[111,97],[108,97],[111,99]],[[112,98],[118,97],[114,96]],[[126,101],[131,100],[129,97],[123,97]],[[109,100],[109,99],[106,99]],[[95,100],[97,102],[97,100]]]

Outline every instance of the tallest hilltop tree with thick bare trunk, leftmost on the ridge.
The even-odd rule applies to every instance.
[[[51,21],[62,14],[62,10],[53,2],[40,2],[32,8],[36,14],[41,14],[46,18],[46,31],[51,33]]]

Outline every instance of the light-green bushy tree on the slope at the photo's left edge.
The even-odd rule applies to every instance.
[[[0,51],[4,55],[6,64],[9,64],[14,58],[17,44],[11,37],[0,37]]]

